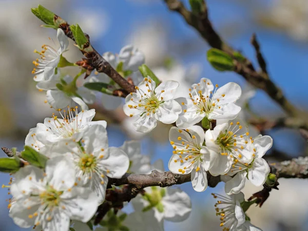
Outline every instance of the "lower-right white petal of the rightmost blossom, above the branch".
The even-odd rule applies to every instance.
[[[269,174],[269,166],[264,159],[256,158],[253,166],[248,169],[248,179],[256,186],[261,186],[265,183]]]

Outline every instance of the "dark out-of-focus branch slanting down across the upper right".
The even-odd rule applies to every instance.
[[[245,58],[245,61],[238,61],[234,57],[234,53],[238,52],[227,43],[225,43],[220,35],[213,28],[213,25],[208,19],[208,9],[204,2],[204,10],[200,13],[193,13],[187,10],[182,2],[179,0],[164,0],[168,8],[176,11],[183,16],[186,23],[194,27],[204,40],[211,46],[220,49],[233,56],[235,64],[234,71],[243,76],[243,78],[253,86],[264,90],[269,97],[271,97],[281,108],[291,117],[301,120],[304,127],[308,128],[308,115],[301,110],[294,107],[283,95],[282,91],[269,79],[266,70],[266,64],[263,55],[260,52],[260,46],[253,35],[252,43],[257,53],[257,59],[261,67],[260,72],[256,71],[252,62]]]

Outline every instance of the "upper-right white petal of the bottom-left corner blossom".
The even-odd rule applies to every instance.
[[[71,188],[75,183],[75,166],[65,157],[55,157],[48,160],[46,174],[50,185],[58,191]]]

